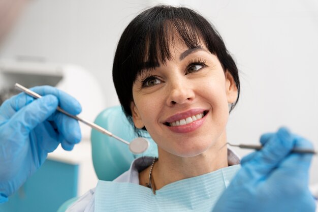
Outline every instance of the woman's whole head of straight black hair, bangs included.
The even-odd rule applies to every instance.
[[[160,63],[165,64],[171,58],[170,47],[175,39],[180,39],[181,43],[188,47],[180,54],[180,60],[202,49],[202,45],[206,47],[206,51],[215,54],[224,71],[228,70],[232,74],[239,94],[237,67],[212,24],[190,9],[156,7],[144,11],[132,20],[117,46],[113,80],[119,101],[128,117],[132,115],[131,88],[137,75],[157,67]]]

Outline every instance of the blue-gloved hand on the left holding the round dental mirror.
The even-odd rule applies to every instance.
[[[81,112],[78,101],[51,86],[31,90],[43,97],[35,100],[21,93],[0,107],[0,203],[39,169],[59,143],[71,150],[81,140],[77,120],[56,111],[59,105],[76,115]]]

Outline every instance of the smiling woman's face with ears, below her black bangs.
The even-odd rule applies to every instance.
[[[237,88],[204,45],[189,49],[174,40],[172,58],[137,77],[131,109],[135,126],[146,127],[158,148],[192,157],[226,142],[228,104]]]

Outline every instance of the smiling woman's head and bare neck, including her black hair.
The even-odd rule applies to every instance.
[[[239,96],[238,70],[206,19],[186,8],[144,11],[121,36],[113,79],[128,118],[158,144],[156,189],[228,166],[221,146],[228,105]],[[149,169],[140,185],[149,184]]]

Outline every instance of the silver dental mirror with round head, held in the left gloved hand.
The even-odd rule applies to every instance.
[[[15,83],[14,86],[17,89],[21,90],[22,92],[26,93],[27,95],[29,95],[31,97],[34,97],[36,99],[42,97],[41,95],[33,92],[32,90],[30,90],[30,89],[28,89],[28,88],[26,88],[26,87],[24,87],[24,86],[22,86],[22,85],[20,85],[18,83]],[[72,114],[66,112],[65,110],[61,109],[60,107],[57,107],[56,110],[58,110],[59,112],[61,112],[63,114],[66,114],[66,115],[68,115],[68,116],[70,116],[70,117],[72,117],[72,118],[74,118],[76,120],[79,120],[80,122],[84,123],[85,125],[88,125],[89,127],[93,128],[93,129],[95,129],[95,130],[97,130],[97,131],[99,131],[99,132],[101,132],[101,133],[103,133],[105,135],[113,137],[113,138],[117,139],[118,141],[121,141],[121,142],[129,145],[129,149],[130,149],[130,151],[133,154],[137,155],[137,154],[144,153],[149,147],[149,141],[146,140],[145,138],[139,137],[139,138],[136,138],[136,139],[132,140],[131,142],[128,142],[128,141],[125,141],[124,139],[112,134],[111,132],[105,130],[104,128],[98,126],[97,124],[89,122],[89,121],[87,121],[87,120],[85,120],[83,118],[80,118],[80,117],[76,116],[76,115],[72,115]]]

